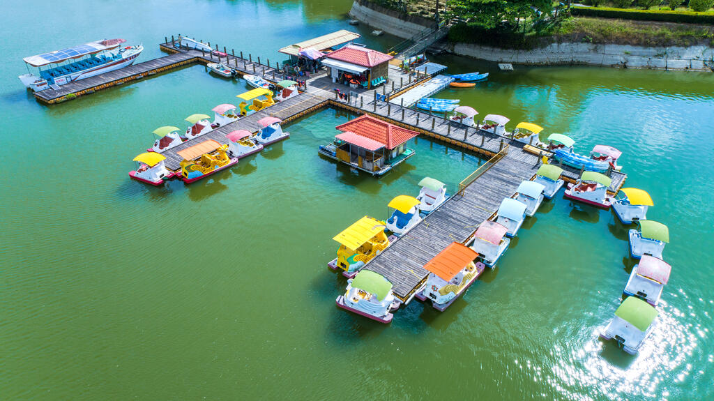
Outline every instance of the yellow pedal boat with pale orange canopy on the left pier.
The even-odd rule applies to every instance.
[[[221,145],[209,139],[176,152],[183,158],[181,161],[183,182],[187,184],[196,182],[238,163],[238,158],[228,157],[227,148],[228,145]]]

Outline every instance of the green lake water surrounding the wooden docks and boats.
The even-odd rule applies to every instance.
[[[291,138],[212,178],[150,188],[131,158],[158,126],[183,126],[246,91],[181,68],[56,106],[16,76],[21,58],[96,39],[158,43],[190,34],[279,60],[277,49],[357,29],[377,49],[398,39],[349,26],[351,1],[176,1],[4,5],[0,34],[0,394],[9,400],[485,399],[709,400],[714,397],[714,77],[708,73],[516,66],[488,71],[461,98],[511,125],[573,136],[587,153],[624,151],[626,186],[655,201],[673,265],[657,327],[637,356],[598,333],[628,273],[628,228],[611,211],[544,203],[446,312],[414,301],[389,326],[336,308],[346,281],[326,268],[333,235],[423,176],[451,191],[481,159],[418,138],[381,179],[318,156],[326,109]],[[41,30],[27,16],[42,10]],[[274,62],[274,61],[273,61]]]

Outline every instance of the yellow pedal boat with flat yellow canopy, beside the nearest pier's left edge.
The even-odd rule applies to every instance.
[[[389,246],[384,223],[368,216],[357,220],[332,239],[340,243],[340,248],[337,249],[337,258],[327,265],[332,270],[342,269],[346,278],[353,278],[358,270]]]

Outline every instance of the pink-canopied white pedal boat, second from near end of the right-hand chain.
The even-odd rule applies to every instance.
[[[652,306],[657,306],[671,272],[672,266],[664,260],[643,255],[640,263],[632,269],[623,295],[637,297]]]

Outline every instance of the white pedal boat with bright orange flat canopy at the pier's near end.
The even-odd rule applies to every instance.
[[[423,290],[416,298],[431,300],[434,309],[443,312],[473,284],[486,266],[473,263],[475,250],[461,243],[451,243],[424,265],[429,272]]]

